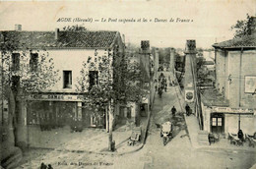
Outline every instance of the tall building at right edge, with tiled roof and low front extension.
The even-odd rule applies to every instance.
[[[255,23],[255,17],[252,17]],[[254,25],[255,29],[255,25]],[[226,104],[205,104],[205,130],[214,133],[256,132],[256,33],[213,45],[216,91]]]

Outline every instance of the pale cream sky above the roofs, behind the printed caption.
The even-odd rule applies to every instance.
[[[246,14],[256,16],[256,0],[2,1],[0,30],[13,30],[16,24],[23,30],[52,31],[83,25],[89,30],[118,30],[126,42],[137,45],[150,40],[155,47],[185,48],[186,39],[195,39],[197,47],[211,48],[215,42],[232,38],[230,27],[246,19]],[[71,18],[71,22],[57,22],[60,18]],[[99,21],[73,22],[75,18]],[[102,18],[106,22],[101,22]],[[138,22],[143,18],[148,22]],[[156,18],[174,21],[156,23]],[[176,22],[177,18],[190,22]],[[114,19],[136,22],[123,24]]]

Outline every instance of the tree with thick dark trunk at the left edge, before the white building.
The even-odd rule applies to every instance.
[[[9,136],[12,138],[14,135],[15,145],[18,146],[21,142],[25,145],[22,139],[26,133],[22,109],[26,107],[29,97],[58,80],[58,71],[54,71],[53,60],[46,49],[31,49],[22,38],[20,32],[1,32],[1,87],[3,97],[9,103],[6,125],[14,128],[14,133],[9,133]]]

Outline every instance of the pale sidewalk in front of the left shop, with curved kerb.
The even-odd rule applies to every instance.
[[[136,151],[143,147],[143,141],[147,126],[147,117],[141,118],[142,141],[129,146],[129,140],[134,125],[126,124],[113,131],[113,141],[115,141],[114,152],[108,151],[108,136],[104,129],[86,128],[81,133],[71,133],[69,127],[54,129],[52,131],[41,132],[34,135],[36,130],[30,129],[31,147],[46,148],[57,151],[88,152],[88,153],[111,153],[125,154]],[[37,137],[34,137],[37,136]]]

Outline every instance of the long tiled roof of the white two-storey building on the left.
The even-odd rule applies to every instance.
[[[118,31],[0,31],[7,39],[15,40],[19,48],[109,48]],[[1,46],[0,46],[1,47]]]

